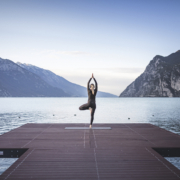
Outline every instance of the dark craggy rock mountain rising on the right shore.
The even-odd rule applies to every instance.
[[[120,97],[180,97],[180,50],[155,56]]]

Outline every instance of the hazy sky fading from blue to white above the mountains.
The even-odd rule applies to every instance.
[[[119,95],[180,49],[180,0],[0,0],[0,57]]]

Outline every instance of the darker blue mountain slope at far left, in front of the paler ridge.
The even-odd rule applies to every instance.
[[[64,97],[62,89],[50,86],[36,74],[13,61],[0,58],[0,97]]]

